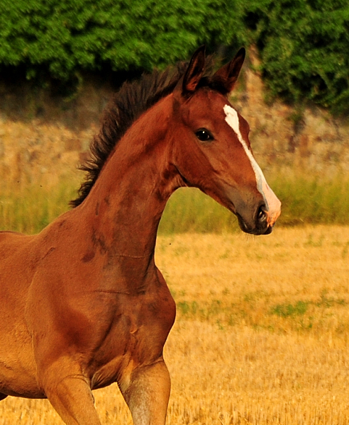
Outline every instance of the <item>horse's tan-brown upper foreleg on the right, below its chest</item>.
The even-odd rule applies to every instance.
[[[165,361],[133,370],[119,383],[135,425],[164,425],[170,397],[170,374]]]

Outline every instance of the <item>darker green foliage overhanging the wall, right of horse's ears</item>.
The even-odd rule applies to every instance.
[[[347,0],[255,0],[244,19],[272,97],[349,112]]]

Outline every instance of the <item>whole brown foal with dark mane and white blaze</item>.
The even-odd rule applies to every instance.
[[[0,398],[47,397],[66,424],[99,425],[92,390],[118,382],[136,425],[163,425],[162,348],[175,305],[154,263],[171,193],[195,186],[267,234],[280,203],[248,123],[227,100],[245,57],[125,84],[104,115],[75,208],[40,234],[0,233]]]

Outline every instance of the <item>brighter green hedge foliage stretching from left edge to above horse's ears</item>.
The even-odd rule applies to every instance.
[[[234,1],[2,0],[0,64],[70,79],[79,69],[164,67],[234,41]],[[228,6],[229,4],[229,6]]]

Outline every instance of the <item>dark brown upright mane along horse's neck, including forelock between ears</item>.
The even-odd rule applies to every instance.
[[[205,75],[214,66],[212,57],[208,59]],[[114,94],[104,111],[101,130],[94,136],[90,145],[89,159],[79,167],[86,171],[87,175],[79,188],[79,196],[70,201],[73,208],[88,196],[118,140],[140,115],[174,91],[178,81],[184,76],[187,65],[187,62],[179,62],[175,67],[168,67],[163,72],[155,70],[152,74],[143,74],[138,81],[126,81]],[[220,81],[211,77],[203,77],[200,86],[210,86],[226,94]]]

